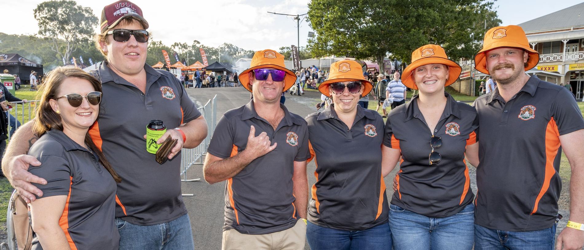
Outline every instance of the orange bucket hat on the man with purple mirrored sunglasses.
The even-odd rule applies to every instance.
[[[254,69],[263,68],[274,68],[286,71],[286,77],[284,77],[284,89],[282,91],[290,89],[290,87],[294,85],[294,82],[296,82],[296,74],[284,66],[284,55],[274,50],[260,50],[253,54],[250,68],[239,74],[239,82],[241,82],[241,85],[251,92],[252,86],[249,86],[248,73]]]

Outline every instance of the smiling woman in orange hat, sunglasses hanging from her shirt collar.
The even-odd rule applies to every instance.
[[[460,72],[433,44],[413,51],[403,72],[402,83],[419,94],[391,110],[385,124],[384,170],[402,159],[390,205],[394,249],[472,249],[474,194],[465,156],[478,165],[477,111],[444,91]]]

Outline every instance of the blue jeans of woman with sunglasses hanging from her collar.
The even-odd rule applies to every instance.
[[[470,250],[474,241],[474,205],[449,217],[430,218],[390,205],[395,250]]]

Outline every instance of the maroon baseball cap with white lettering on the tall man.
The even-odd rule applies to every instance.
[[[146,25],[144,29],[148,29],[148,22],[146,19],[144,19],[144,17],[142,17],[142,9],[140,9],[138,5],[135,5],[130,1],[117,1],[103,7],[102,19],[100,20],[102,33],[107,29],[111,29],[116,26],[121,19],[130,16],[134,16],[137,19],[142,20],[142,22],[144,22]]]

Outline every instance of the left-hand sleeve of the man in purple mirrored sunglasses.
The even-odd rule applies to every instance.
[[[234,153],[237,154],[237,151],[234,152],[235,145],[233,138],[234,131],[231,127],[231,122],[223,115],[219,119],[219,122],[217,122],[217,126],[215,126],[215,132],[213,133],[207,152],[221,159],[227,159]]]

